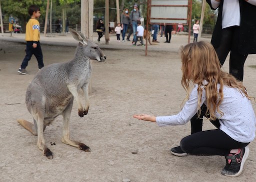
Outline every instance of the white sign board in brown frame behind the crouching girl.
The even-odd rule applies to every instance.
[[[188,0],[151,0],[150,23],[188,24]]]

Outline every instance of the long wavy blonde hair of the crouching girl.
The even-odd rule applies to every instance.
[[[232,75],[222,71],[218,56],[210,43],[199,41],[181,46],[180,56],[183,73],[181,85],[187,93],[185,100],[189,97],[191,82],[193,84],[198,84],[198,117],[201,113],[200,103],[202,88],[205,89],[207,103],[206,113],[207,118],[210,120],[216,119],[215,111],[223,116],[223,112],[219,110],[219,105],[223,100],[223,85],[237,88],[241,94],[243,93],[249,100],[254,99],[248,96],[242,82],[236,80]],[[203,80],[206,80],[208,83],[203,85]],[[217,84],[220,85],[219,92]]]

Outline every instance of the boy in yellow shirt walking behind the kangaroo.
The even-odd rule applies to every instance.
[[[27,71],[25,70],[28,65],[28,61],[31,59],[32,55],[36,57],[38,62],[38,68],[41,69],[43,67],[42,60],[42,50],[40,46],[40,24],[37,20],[40,17],[40,8],[37,5],[30,5],[28,8],[28,13],[31,16],[29,21],[26,24],[26,55],[18,69],[18,73],[27,75]]]

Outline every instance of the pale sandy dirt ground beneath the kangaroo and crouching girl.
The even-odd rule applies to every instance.
[[[220,174],[225,165],[222,156],[170,154],[169,149],[189,135],[189,123],[160,128],[132,118],[133,114],[162,116],[180,110],[185,92],[180,85],[178,48],[186,39],[173,36],[167,45],[159,39],[158,45],[148,46],[147,56],[144,47],[132,47],[130,42],[118,44],[114,36],[111,48],[101,43],[107,60],[92,61],[89,112],[78,117],[74,102],[70,122],[71,139],[85,143],[91,152],[61,143],[59,116],[44,131],[45,143],[53,152],[53,159],[48,160],[36,146],[37,137],[16,121],[32,122],[25,106],[25,91],[38,70],[37,62],[33,57],[27,67],[30,74],[19,75],[25,44],[15,42],[15,38],[0,38],[0,182],[255,182],[255,140],[249,145],[242,174],[229,178]],[[45,65],[71,60],[75,50],[71,45],[41,47]],[[249,55],[244,66],[244,85],[254,97],[255,58]],[[223,69],[228,71],[228,61]],[[253,107],[256,110],[255,104]],[[213,128],[204,121],[203,130]]]

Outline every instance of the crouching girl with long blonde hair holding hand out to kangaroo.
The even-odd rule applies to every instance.
[[[181,46],[181,84],[186,102],[172,116],[134,115],[139,120],[156,122],[158,126],[186,124],[196,113],[202,113],[217,129],[184,137],[180,149],[186,155],[224,156],[221,174],[237,177],[249,155],[248,144],[255,137],[255,114],[242,82],[220,68],[213,46],[204,41]]]

